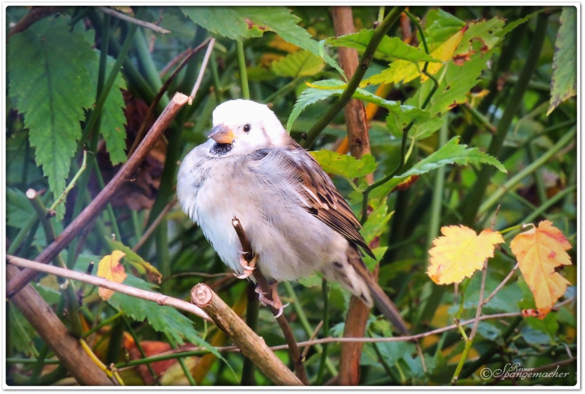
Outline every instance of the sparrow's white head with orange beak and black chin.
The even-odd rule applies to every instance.
[[[214,140],[211,153],[216,155],[248,154],[255,150],[282,146],[288,134],[274,112],[264,104],[250,100],[226,101],[215,108]]]

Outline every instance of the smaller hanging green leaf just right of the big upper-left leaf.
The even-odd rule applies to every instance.
[[[112,71],[113,64],[116,60],[108,56],[106,62],[106,78]],[[91,86],[98,85],[99,62],[91,64],[88,69],[91,74]],[[121,89],[126,89],[126,81],[122,73],[118,72],[113,83],[112,89],[108,92],[104,106],[102,107],[102,116],[99,131],[106,142],[106,150],[110,155],[112,165],[125,163],[126,157],[126,116],[124,114],[124,97]]]

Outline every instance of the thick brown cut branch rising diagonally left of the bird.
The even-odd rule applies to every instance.
[[[99,215],[116,190],[118,190],[118,188],[136,172],[140,163],[142,163],[144,157],[146,157],[150,148],[154,145],[154,142],[159,138],[160,134],[167,129],[168,125],[170,125],[185,103],[187,103],[187,96],[182,93],[174,95],[163,113],[159,116],[159,119],[154,122],[154,125],[150,128],[149,133],[147,133],[135,153],[132,154],[108,185],[99,192],[90,205],[88,205],[80,215],[77,216],[65,230],[63,230],[63,233],[61,233],[54,242],[49,244],[49,246],[37,256],[35,261],[47,264],[47,262],[53,260],[53,258],[55,258],[55,256],[59,254],[60,251],[63,250],[63,248],[66,247],[95,216]],[[35,278],[36,275],[37,271],[33,271],[32,269],[23,269],[23,271],[20,271],[20,273],[16,275],[15,278],[12,278],[12,280],[6,285],[6,296],[11,298],[28,282]]]

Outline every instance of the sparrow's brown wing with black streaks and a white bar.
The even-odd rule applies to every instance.
[[[278,161],[283,161],[281,166],[291,172],[290,181],[300,186],[297,190],[307,203],[303,208],[374,258],[359,233],[362,228],[359,220],[311,154],[292,139],[284,147],[264,148],[256,154],[257,160],[277,156]]]

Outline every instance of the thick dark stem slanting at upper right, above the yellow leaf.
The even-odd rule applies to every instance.
[[[504,144],[504,139],[510,125],[514,119],[515,114],[518,111],[520,104],[522,103],[522,97],[524,96],[526,89],[528,88],[528,82],[532,78],[532,74],[538,64],[538,58],[540,57],[542,46],[546,36],[546,22],[548,15],[541,13],[538,15],[536,20],[536,30],[532,39],[532,46],[526,57],[524,68],[521,71],[520,77],[518,78],[518,84],[512,91],[510,99],[505,107],[504,113],[498,122],[497,130],[494,137],[491,139],[490,146],[488,147],[487,154],[494,157],[498,157],[501,147]],[[471,191],[467,194],[466,198],[460,205],[460,210],[463,213],[463,223],[467,226],[472,226],[478,210],[480,209],[480,203],[483,199],[488,184],[490,183],[491,175],[493,174],[494,168],[490,165],[484,165],[481,168],[477,180],[471,188]],[[485,205],[485,204],[484,204]]]

